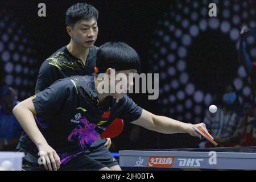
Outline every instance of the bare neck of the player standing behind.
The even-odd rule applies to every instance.
[[[73,56],[82,60],[82,62],[85,65],[85,62],[89,53],[89,48],[84,48],[82,46],[79,46],[78,44],[72,42],[71,40],[71,42],[69,42],[69,44],[67,45],[67,49]]]

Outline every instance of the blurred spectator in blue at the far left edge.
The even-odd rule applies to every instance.
[[[15,151],[22,127],[13,114],[18,104],[14,89],[4,86],[0,93],[0,151]]]

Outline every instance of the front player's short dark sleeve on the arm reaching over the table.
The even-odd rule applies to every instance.
[[[141,117],[142,108],[135,104],[130,97],[127,95],[123,96],[121,102],[123,102],[123,113],[120,118],[124,122],[130,123]]]

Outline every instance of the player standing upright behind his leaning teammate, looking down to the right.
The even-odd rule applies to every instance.
[[[49,56],[41,65],[38,79],[36,81],[35,92],[38,93],[53,82],[75,75],[92,75],[96,65],[96,53],[98,47],[94,46],[98,35],[98,11],[87,3],[76,3],[69,7],[65,16],[67,32],[71,37],[67,46],[61,47]],[[26,133],[22,134],[22,139],[28,138]],[[19,142],[16,151],[22,151],[22,143]],[[110,138],[98,137],[96,142],[90,146],[90,157],[99,160],[106,166],[116,166],[108,150],[111,145]],[[29,155],[25,156],[27,162],[33,160]]]

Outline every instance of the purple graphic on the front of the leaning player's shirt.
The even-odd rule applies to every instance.
[[[80,125],[77,126],[69,135],[69,142],[77,138],[79,145],[82,148],[89,147],[100,134],[95,131],[96,125],[94,123],[89,123],[85,117],[80,120]]]

